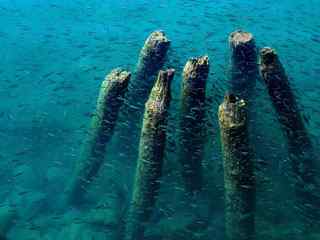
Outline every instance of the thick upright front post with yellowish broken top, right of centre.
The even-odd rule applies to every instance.
[[[227,240],[253,240],[255,235],[255,175],[246,108],[245,101],[232,94],[219,106]]]

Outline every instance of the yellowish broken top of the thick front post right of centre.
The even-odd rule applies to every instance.
[[[245,126],[247,121],[246,102],[234,94],[227,93],[219,106],[219,123],[224,129],[236,129]]]

